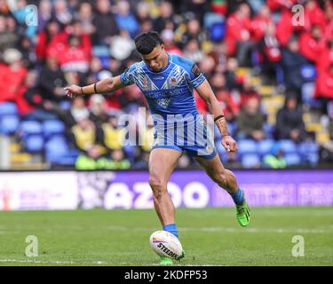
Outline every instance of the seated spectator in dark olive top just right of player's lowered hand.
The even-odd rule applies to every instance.
[[[260,111],[259,100],[255,97],[248,99],[237,117],[237,137],[262,140],[265,138],[264,122],[265,116]]]

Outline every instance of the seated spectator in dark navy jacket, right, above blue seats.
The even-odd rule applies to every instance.
[[[276,134],[278,139],[292,139],[296,143],[305,138],[303,112],[294,93],[285,99],[284,106],[276,114]]]

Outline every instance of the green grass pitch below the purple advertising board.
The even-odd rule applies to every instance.
[[[177,209],[186,258],[176,265],[333,265],[333,208],[252,208],[242,228],[232,208]],[[157,265],[153,209],[0,212],[0,265]],[[25,255],[28,235],[38,256]],[[305,240],[295,257],[293,236]]]

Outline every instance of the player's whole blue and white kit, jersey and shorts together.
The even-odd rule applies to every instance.
[[[195,149],[198,146],[203,147],[203,142],[198,143],[195,133],[202,132],[202,135],[206,135],[206,129],[195,106],[193,91],[206,78],[193,61],[169,53],[168,57],[168,65],[160,72],[151,71],[144,61],[140,61],[131,65],[120,75],[120,79],[125,85],[135,83],[144,93],[155,122],[155,130],[158,132],[155,133],[155,139],[157,138],[155,147],[159,146],[159,143],[162,143],[163,140],[163,146],[175,148],[179,151],[184,150],[184,144],[180,145],[177,141],[179,134],[176,133],[176,130],[174,130],[174,133],[169,131],[166,134],[168,129],[173,128],[173,121],[170,116],[173,116],[174,121],[186,122],[186,133],[185,137],[182,137],[182,141],[185,140],[187,151],[189,150],[189,143],[187,142],[192,138],[194,139],[194,145],[189,146],[194,146]],[[186,119],[188,116],[192,116],[194,119]],[[189,130],[189,124],[195,124],[194,128]],[[202,126],[202,130],[197,130],[197,124]]]

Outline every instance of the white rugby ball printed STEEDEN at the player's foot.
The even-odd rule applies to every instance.
[[[167,256],[172,259],[180,259],[183,248],[180,241],[172,233],[156,231],[150,235],[150,246],[158,256]]]

